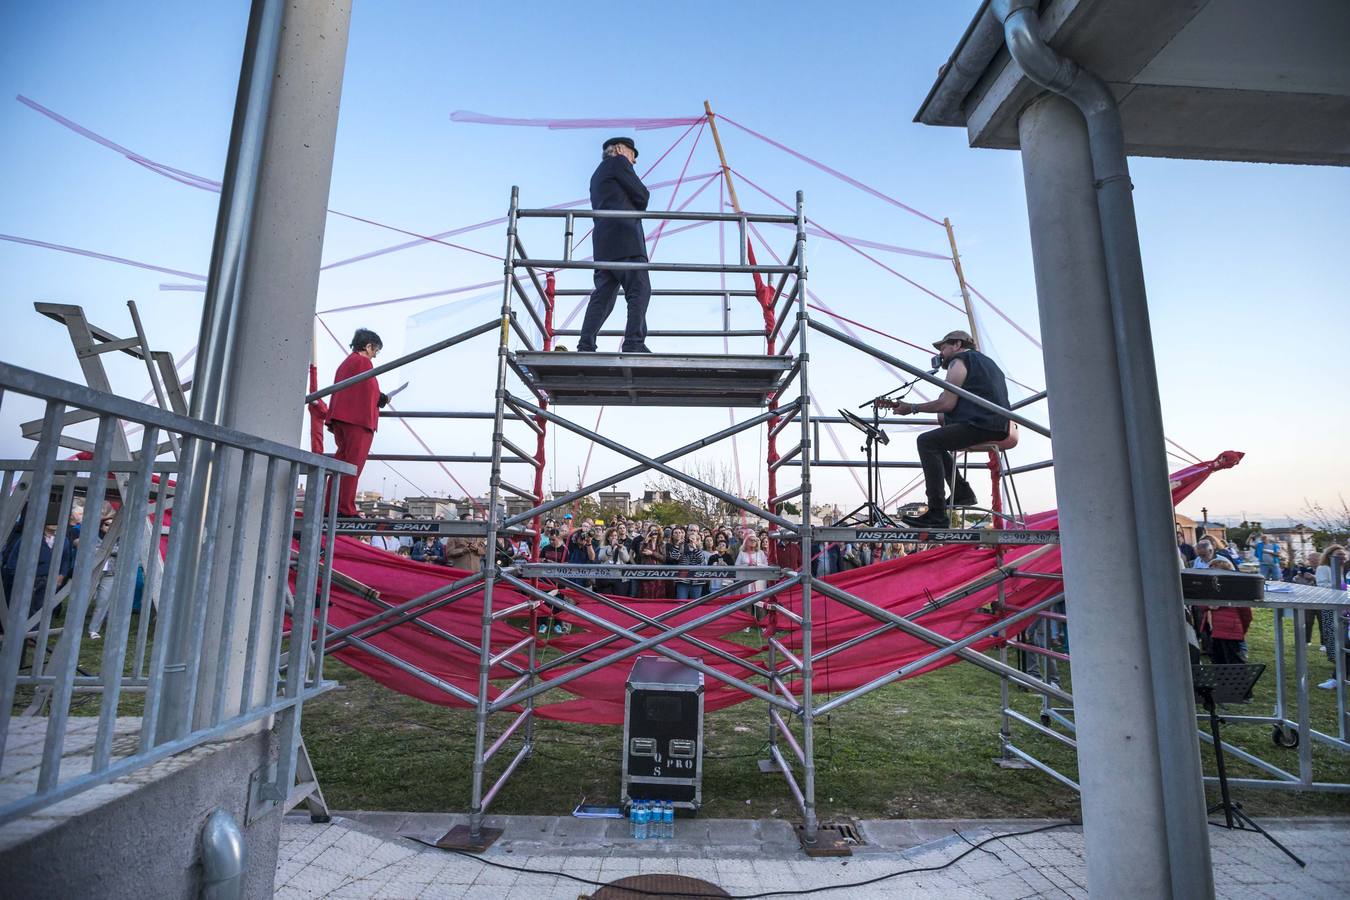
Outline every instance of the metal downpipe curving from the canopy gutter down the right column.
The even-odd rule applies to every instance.
[[[1069,100],[1087,124],[1125,407],[1138,568],[1145,586],[1170,881],[1173,896],[1214,896],[1204,785],[1187,690],[1191,672],[1183,633],[1181,583],[1172,545],[1162,409],[1125,130],[1115,96],[1106,82],[1057,54],[1041,38],[1037,7],[1037,0],[994,0],[990,11],[1002,22],[1008,53],[1027,78]],[[1169,749],[1184,748],[1191,752],[1169,753]],[[1203,865],[1197,865],[1200,861]]]

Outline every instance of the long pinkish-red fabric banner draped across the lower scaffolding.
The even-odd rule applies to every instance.
[[[1212,472],[1235,466],[1241,459],[1241,453],[1228,451],[1215,460],[1189,466],[1173,474],[1170,480],[1173,502],[1180,502],[1192,494]],[[1033,530],[1053,529],[1057,525],[1058,514],[1054,510],[1034,515],[1029,521],[1029,526]],[[1018,546],[1010,548],[1004,553],[1004,564],[1015,565],[1019,560],[1023,560],[1025,571],[1041,573],[1061,572],[1060,549],[1057,546],[1052,546],[1046,552],[1042,552],[1037,546]],[[933,598],[950,594],[973,579],[991,573],[995,564],[995,553],[991,548],[946,545],[898,560],[829,575],[824,580],[895,615],[913,615],[918,625],[946,638],[960,640],[998,622],[1002,615],[1023,610],[1054,595],[1061,588],[1061,584],[1053,580],[1014,578],[1004,582],[1004,613],[995,613],[990,607],[991,602],[998,596],[996,586],[984,587],[967,598],[923,613],[923,609],[932,603]],[[378,590],[381,599],[386,603],[401,603],[413,599],[467,575],[467,572],[447,569],[441,565],[414,563],[351,538],[338,538],[333,551],[333,568],[362,584]],[[803,613],[801,590],[787,590],[779,598],[782,604],[796,615]],[[522,594],[498,584],[494,590],[493,607],[504,609],[526,599]],[[648,637],[655,631],[651,627],[644,627],[636,614],[657,617],[679,606],[676,600],[617,598],[632,610],[630,613],[625,613],[579,595],[568,594],[568,599],[606,622],[636,630],[641,637]],[[697,606],[684,613],[671,615],[664,623],[668,626],[687,623],[733,599],[728,598]],[[481,640],[482,603],[483,595],[479,587],[479,590],[447,607],[427,613],[421,617],[421,622],[424,626],[441,629],[463,641],[477,645]],[[333,587],[329,609],[329,622],[332,625],[338,627],[352,625],[377,611],[379,611],[377,604],[359,595]],[[547,610],[540,607],[536,615],[544,617],[547,615]],[[818,591],[811,595],[811,618],[815,623],[813,629],[815,653],[838,648],[879,625],[879,621],[871,615],[855,611],[837,600],[828,599]],[[558,619],[570,622],[571,631],[541,640],[559,650],[580,650],[609,634],[568,614],[559,614]],[[494,622],[490,627],[493,650],[501,652],[520,641],[526,633],[525,629],[533,627],[535,621],[533,615],[522,611],[517,619]],[[705,641],[734,658],[764,665],[765,658],[761,648],[745,646],[742,642],[732,640],[742,629],[752,625],[752,617],[748,613],[738,611],[710,625],[694,629],[687,637]],[[1030,619],[1011,626],[1008,637],[1015,637],[1029,625]],[[470,694],[477,694],[477,653],[466,652],[443,637],[429,633],[424,626],[409,622],[366,640],[396,658],[405,660],[436,679],[455,684]],[[801,652],[801,629],[787,617],[771,617],[770,626],[776,629],[779,638],[786,646],[794,652]],[[972,649],[984,652],[996,648],[1000,640],[1004,638],[986,638],[972,644]],[[560,667],[545,673],[543,677],[544,680],[558,679],[566,672],[575,671],[576,667],[585,663],[609,656],[628,645],[629,641],[626,638],[618,638],[605,648],[587,653],[575,665]],[[751,683],[763,684],[761,677],[748,676],[744,667],[707,653],[688,640],[676,638],[667,642],[666,646],[701,658],[716,671],[734,675]],[[933,650],[934,646],[932,644],[892,629],[821,660],[815,667],[817,694],[829,695],[860,687],[887,672],[894,672],[907,663],[921,660]],[[444,706],[463,706],[459,700],[428,684],[425,680],[378,660],[360,649],[347,648],[338,650],[336,656],[343,663],[401,694]],[[524,653],[508,658],[520,667],[524,667],[526,663]],[[954,661],[957,661],[956,657],[938,660],[915,675],[934,671]],[[543,700],[556,698],[558,695],[544,695],[536,704],[536,711],[540,716],[549,719],[618,725],[624,719],[624,684],[629,668],[632,668],[630,657],[568,681],[560,688],[568,699],[547,703]],[[516,677],[505,665],[498,665],[490,675],[497,681]],[[795,685],[795,683],[791,684]],[[792,690],[796,690],[796,687]],[[498,688],[491,687],[489,692],[495,696]],[[751,699],[751,695],[734,685],[714,677],[709,677],[706,681],[705,702],[709,710],[725,708],[747,699]]]

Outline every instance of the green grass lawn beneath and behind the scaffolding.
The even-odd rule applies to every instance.
[[[1250,660],[1273,663],[1272,614],[1258,611],[1249,634]],[[1288,646],[1288,645],[1287,645]],[[1292,681],[1292,652],[1288,654]],[[1310,648],[1314,681],[1327,677],[1324,654]],[[325,676],[342,687],[305,706],[304,734],[331,807],[336,810],[466,811],[473,766],[471,711],[447,710],[394,694],[336,660]],[[1072,687],[1068,683],[1065,687]],[[1335,733],[1331,691],[1312,691],[1314,727]],[[999,683],[969,664],[950,665],[892,684],[818,722],[819,815],[860,818],[1075,816],[1077,795],[1035,770],[1000,769]],[[1268,669],[1251,706],[1234,714],[1268,714],[1274,677]],[[1037,696],[1014,690],[1030,716]],[[494,716],[497,729],[509,716]],[[1076,777],[1072,750],[1021,729],[1018,746]],[[713,712],[705,725],[703,814],[726,818],[795,818],[780,776],[761,775],[767,714],[760,702]],[[1276,749],[1268,726],[1237,726],[1224,738],[1297,768],[1297,750]],[[493,801],[498,814],[566,815],[582,797],[614,800],[620,791],[618,726],[536,723],[536,750]],[[517,746],[513,738],[510,746]],[[489,764],[493,775],[510,758]],[[1272,754],[1277,754],[1272,757]],[[784,756],[791,752],[784,749]],[[1212,753],[1204,749],[1206,770]],[[1318,779],[1350,781],[1350,754],[1314,749]],[[1233,762],[1233,776],[1258,775]],[[1129,773],[1120,773],[1129,777]],[[1350,795],[1238,789],[1253,815],[1350,814]]]

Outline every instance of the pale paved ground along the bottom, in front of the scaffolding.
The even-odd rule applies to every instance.
[[[1025,819],[865,820],[860,830],[869,843],[852,857],[818,860],[802,855],[790,823],[768,819],[682,820],[679,826],[697,826],[683,828],[675,841],[639,842],[626,837],[626,827],[616,830],[606,820],[495,816],[490,823],[504,828],[504,837],[481,855],[436,850],[375,827],[443,833],[451,819],[458,823],[464,816],[339,814],[325,824],[310,823],[308,816],[288,818],[277,896],[576,900],[594,893],[597,881],[655,873],[703,878],[733,895],[805,888],[848,900],[1087,896],[1081,828],[1064,824],[1053,831],[1011,834],[1046,824]],[[1269,819],[1262,824],[1318,862],[1299,869],[1278,851],[1269,853],[1258,834],[1215,828],[1211,841],[1219,897],[1350,895],[1350,854],[1345,853],[1350,818]],[[1008,837],[971,850],[972,842],[996,834]],[[946,868],[914,872],[934,866]],[[884,880],[859,884],[879,877]]]

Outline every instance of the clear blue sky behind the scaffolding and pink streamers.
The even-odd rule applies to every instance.
[[[216,194],[128,162],[14,97],[31,97],[158,162],[219,178],[246,5],[148,0],[0,5],[0,233],[204,273]],[[949,216],[971,282],[1034,335],[1035,293],[1018,155],[969,150],[960,130],[910,121],[976,7],[973,0],[834,7],[358,3],[329,206],[437,232],[502,215],[513,184],[521,186],[525,205],[578,198],[606,131],[456,124],[450,113],[695,116],[709,99],[726,116],[886,194],[938,219]],[[680,131],[640,132],[640,167]],[[807,213],[822,225],[945,251],[945,236],[932,223],[725,124],[724,140],[732,166],[767,190],[788,200],[805,190]],[[691,142],[693,135],[649,181],[675,178]],[[705,134],[687,171],[697,175],[714,167]],[[1203,457],[1223,449],[1247,453],[1242,466],[1214,478],[1183,511],[1197,515],[1203,503],[1216,515],[1297,518],[1305,499],[1334,502],[1338,494],[1350,495],[1342,349],[1350,327],[1345,302],[1350,173],[1162,159],[1135,159],[1131,169],[1168,433]],[[683,185],[674,202],[687,200],[699,184]],[[705,190],[693,208],[714,208],[716,190],[716,185]],[[774,210],[752,188],[742,185],[740,193],[747,209]],[[670,202],[671,189],[655,192],[653,208]],[[765,236],[779,252],[786,251],[787,232]],[[555,255],[552,248],[560,244],[558,229],[537,223],[525,237],[536,255]],[[332,262],[398,240],[389,231],[329,217],[324,258]],[[491,228],[455,240],[500,254],[505,237]],[[728,252],[734,252],[733,244],[728,235]],[[716,228],[702,228],[663,239],[657,256],[710,260],[717,252]],[[876,256],[934,293],[959,300],[949,263]],[[841,314],[915,343],[964,325],[956,312],[846,247],[814,240],[810,262],[814,290]],[[319,309],[486,282],[498,274],[500,263],[486,256],[431,244],[325,271]],[[666,278],[664,285],[684,283]],[[182,354],[196,341],[201,294],[162,290],[161,285],[185,281],[0,242],[0,296],[11,339],[4,359],[80,379],[63,333],[32,312],[35,300],[84,305],[94,322],[116,332],[130,332],[126,301],[135,300],[151,340]],[[583,286],[586,278],[574,274],[562,283]],[[332,313],[324,320],[344,340],[359,325],[377,328],[393,355],[490,318],[497,302],[495,291],[471,291]],[[733,324],[748,328],[756,316],[753,309],[737,309]],[[714,327],[718,318],[714,302],[676,306],[676,301],[657,300],[651,324]],[[1030,341],[988,309],[980,325],[1014,378],[1044,383],[1040,351]],[[902,344],[875,340],[922,362]],[[721,341],[680,348],[720,352]],[[752,351],[744,343],[738,348]],[[455,356],[432,358],[386,378],[386,387],[410,382],[400,397],[405,409],[487,409],[491,358],[489,343],[475,343]],[[336,345],[320,332],[325,378],[339,360]],[[128,395],[144,393],[144,374],[130,360],[117,360],[113,375]],[[824,340],[813,344],[813,387],[824,410],[856,406],[892,386],[892,375],[872,360]],[[16,424],[30,414],[31,407],[20,402],[4,405],[0,452],[28,452]],[[585,410],[576,418],[589,426],[595,416]],[[601,421],[608,433],[659,451],[721,428],[726,413],[695,410],[672,417],[666,410],[610,409]],[[487,451],[486,430],[473,425],[425,422],[418,432],[446,452]],[[838,440],[856,455],[853,434],[840,432]],[[891,457],[913,457],[910,440],[902,436],[892,444]],[[837,455],[829,436],[822,444],[822,453]],[[413,439],[389,422],[378,445],[416,451]],[[756,463],[763,459],[761,439],[745,437],[737,452],[744,488],[763,488],[763,466]],[[1031,461],[1046,452],[1044,443],[1027,441],[1015,460]],[[574,484],[586,459],[583,443],[559,439],[548,480],[559,487]],[[589,466],[594,478],[620,460],[597,449]],[[435,466],[400,464],[398,470],[373,464],[364,486],[400,495],[458,493]],[[470,490],[486,484],[486,467],[463,466],[452,472]],[[886,487],[894,491],[906,480],[888,475]],[[824,499],[842,506],[859,501],[859,488],[842,471],[819,471],[815,483]],[[640,490],[641,483],[629,487]],[[1027,476],[1023,499],[1030,509],[1053,505],[1049,475]]]

